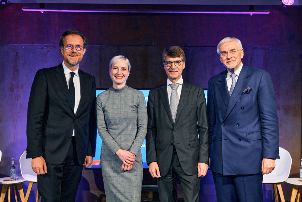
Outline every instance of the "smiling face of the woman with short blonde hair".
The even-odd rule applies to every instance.
[[[114,88],[119,89],[124,87],[130,74],[127,62],[125,60],[120,60],[112,65],[111,69],[109,69],[109,74]]]

